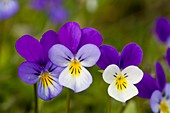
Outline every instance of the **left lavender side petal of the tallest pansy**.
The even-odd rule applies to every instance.
[[[49,59],[57,66],[67,66],[74,58],[72,52],[61,44],[52,46],[48,52]]]

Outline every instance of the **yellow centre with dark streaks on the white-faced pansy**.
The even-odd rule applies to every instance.
[[[123,76],[122,74],[118,74],[116,76],[116,82],[115,82],[115,86],[118,90],[122,91],[125,90],[127,88],[127,80],[126,77]]]

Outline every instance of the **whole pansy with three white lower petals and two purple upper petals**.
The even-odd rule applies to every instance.
[[[98,66],[104,70],[103,79],[110,84],[108,93],[120,102],[126,102],[138,94],[134,86],[141,81],[143,72],[137,66],[142,61],[142,49],[135,43],[124,47],[121,54],[108,45],[100,47]]]

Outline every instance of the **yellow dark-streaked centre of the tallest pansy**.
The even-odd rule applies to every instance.
[[[69,73],[72,76],[79,76],[81,74],[82,68],[78,60],[72,60],[69,65]]]

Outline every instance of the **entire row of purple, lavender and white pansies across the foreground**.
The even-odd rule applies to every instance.
[[[80,28],[76,22],[67,22],[56,33],[45,32],[40,42],[24,35],[16,42],[17,52],[26,59],[18,68],[21,80],[38,83],[38,96],[50,100],[63,87],[75,93],[92,84],[92,75],[85,67],[95,64],[103,71],[102,77],[109,85],[108,94],[125,103],[138,95],[150,99],[153,112],[170,112],[170,84],[159,62],[157,79],[138,68],[143,52],[136,43],[127,44],[121,53],[114,47],[102,45],[102,36],[94,28]],[[170,64],[170,48],[166,55]]]

